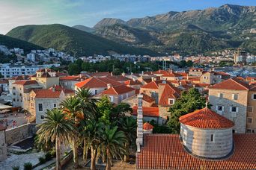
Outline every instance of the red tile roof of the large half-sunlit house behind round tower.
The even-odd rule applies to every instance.
[[[210,89],[237,89],[237,90],[248,90],[249,84],[245,81],[240,81],[238,78],[230,78],[226,81],[222,81],[219,84],[214,84],[209,87]]]

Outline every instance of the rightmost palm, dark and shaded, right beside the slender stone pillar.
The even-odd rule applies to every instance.
[[[125,136],[127,136],[127,142],[125,142],[125,147],[127,148],[127,151],[129,151],[129,146],[132,145],[132,143],[135,143],[136,139],[136,131],[137,131],[137,122],[132,117],[124,117],[121,119],[120,122],[118,122],[119,127],[122,131],[124,131]],[[124,162],[129,161],[129,152],[124,155]]]

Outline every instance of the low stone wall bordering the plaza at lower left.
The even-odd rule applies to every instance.
[[[36,133],[36,124],[25,124],[19,127],[8,129],[5,131],[5,138],[7,145],[12,145],[26,139],[29,136],[34,136]]]

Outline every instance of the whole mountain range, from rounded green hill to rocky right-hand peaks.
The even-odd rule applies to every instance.
[[[124,21],[102,19],[94,28],[25,25],[8,37],[70,54],[205,54],[245,48],[256,54],[256,7],[225,4],[205,10],[168,12]]]

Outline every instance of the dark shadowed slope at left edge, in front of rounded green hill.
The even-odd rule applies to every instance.
[[[39,45],[34,45],[30,42],[19,40],[16,38],[4,36],[0,34],[0,45],[5,45],[7,48],[22,48],[26,53],[31,49],[43,49]]]

